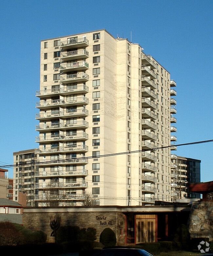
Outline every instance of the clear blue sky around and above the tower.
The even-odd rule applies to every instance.
[[[213,1],[2,0],[0,165],[35,143],[40,41],[106,29],[139,43],[177,83],[177,144],[212,136]],[[201,181],[213,180],[213,142],[180,146],[175,154],[201,160]],[[9,168],[9,177],[12,177]]]

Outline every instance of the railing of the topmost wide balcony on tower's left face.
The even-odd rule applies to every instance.
[[[48,95],[48,94],[56,94],[56,93],[65,93],[65,92],[77,92],[77,91],[84,91],[88,92],[88,86],[86,85],[73,85],[72,87],[63,87],[58,89],[48,89],[48,90],[39,90],[36,91],[36,96]]]

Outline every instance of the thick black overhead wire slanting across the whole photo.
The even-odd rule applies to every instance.
[[[201,143],[207,143],[207,142],[213,142],[213,140],[208,140],[208,141],[196,141],[196,142],[189,142],[189,143],[183,143],[183,144],[178,144],[175,145],[177,146],[186,146],[186,145],[194,145],[194,144],[201,144]],[[127,152],[121,152],[121,153],[113,153],[113,154],[106,154],[106,155],[100,155],[100,156],[89,156],[89,157],[80,157],[80,158],[68,158],[68,159],[60,159],[60,160],[51,160],[51,161],[45,161],[45,162],[37,162],[37,163],[30,163],[30,164],[18,164],[18,165],[5,165],[5,166],[0,166],[1,167],[15,167],[15,166],[33,166],[33,165],[41,165],[41,164],[49,164],[49,163],[59,163],[59,162],[66,162],[66,161],[75,161],[75,160],[84,160],[84,159],[91,159],[91,158],[101,158],[101,157],[107,157],[107,156],[118,156],[118,155],[125,155],[125,154],[133,154],[133,153],[140,153],[140,152],[145,152],[145,151],[150,151],[150,150],[157,150],[161,148],[169,148],[173,147],[174,145],[170,146],[164,146],[164,147],[156,147],[156,148],[149,148],[149,149],[143,149],[143,150],[135,150],[135,151],[127,151]],[[53,152],[55,153],[55,152]]]

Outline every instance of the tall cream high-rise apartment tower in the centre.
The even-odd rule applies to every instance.
[[[39,205],[171,201],[175,86],[139,44],[106,30],[42,40]]]

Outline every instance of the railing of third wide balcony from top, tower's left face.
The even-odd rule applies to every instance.
[[[73,110],[68,110],[68,111],[60,111],[60,112],[41,112],[35,115],[36,119],[40,119],[40,118],[52,118],[52,117],[56,117],[56,116],[64,116],[64,115],[88,115],[88,110],[87,109],[73,109]]]

